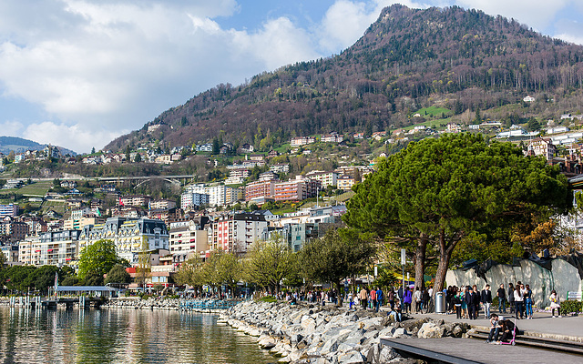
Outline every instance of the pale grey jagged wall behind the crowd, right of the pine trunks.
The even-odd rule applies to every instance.
[[[560,300],[567,299],[568,291],[581,291],[583,281],[579,278],[578,269],[568,264],[563,259],[553,259],[551,270],[542,268],[537,263],[530,260],[521,260],[520,267],[512,267],[506,264],[493,266],[486,271],[486,281],[476,275],[476,270],[462,269],[448,270],[445,276],[447,286],[472,286],[483,289],[486,283],[496,295],[496,290],[500,284],[504,283],[506,291],[508,283],[516,284],[521,281],[525,285],[530,285],[533,294],[533,302],[537,308],[545,308],[550,304],[548,296],[552,289],[557,290]]]

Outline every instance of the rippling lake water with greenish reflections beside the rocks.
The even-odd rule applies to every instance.
[[[209,314],[0,307],[0,363],[275,363]]]

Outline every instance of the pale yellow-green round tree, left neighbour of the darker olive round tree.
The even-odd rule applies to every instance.
[[[245,261],[245,277],[261,287],[280,292],[281,281],[293,278],[298,270],[296,254],[280,235],[269,241],[258,241]]]

